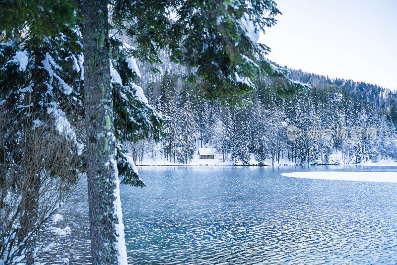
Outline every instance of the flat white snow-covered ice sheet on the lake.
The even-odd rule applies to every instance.
[[[281,175],[284,177],[304,178],[304,179],[397,183],[396,172],[309,171],[309,172],[282,173]]]

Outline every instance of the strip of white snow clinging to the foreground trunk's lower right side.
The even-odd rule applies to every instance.
[[[119,265],[128,265],[127,262],[127,247],[126,247],[126,239],[124,235],[124,224],[123,224],[123,212],[121,208],[121,199],[120,199],[120,180],[119,180],[119,171],[117,169],[117,161],[116,161],[116,152],[113,157],[110,159],[111,164],[113,165],[113,170],[115,172],[116,177],[116,188],[113,191],[113,195],[115,200],[113,201],[113,210],[114,214],[117,216],[118,222],[115,225],[117,239],[116,239],[116,248],[118,250],[118,261]]]

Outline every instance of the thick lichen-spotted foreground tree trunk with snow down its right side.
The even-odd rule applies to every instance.
[[[92,264],[127,264],[110,84],[108,1],[83,0],[84,108]]]

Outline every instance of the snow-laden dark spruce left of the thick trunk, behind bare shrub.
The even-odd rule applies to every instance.
[[[81,129],[81,81],[80,67],[82,66],[81,46],[78,45],[78,34],[69,28],[60,28],[60,32],[53,37],[45,37],[37,45],[39,40],[34,36],[27,37],[22,41],[10,37],[7,43],[0,44],[0,101],[1,109],[7,115],[14,117],[11,120],[14,127],[17,126],[20,133],[12,135],[5,145],[5,152],[13,150],[15,144],[18,144],[18,137],[28,132],[34,127],[42,126],[43,121],[52,120],[60,136],[66,137],[72,143],[70,152],[79,156],[83,164],[83,134],[78,131]],[[71,119],[73,117],[73,119]],[[4,122],[11,122],[4,121]],[[28,148],[28,147],[27,147]],[[21,149],[21,151],[23,151]],[[11,151],[9,151],[11,153]],[[18,164],[18,157],[9,157],[13,163]],[[5,157],[3,159],[6,159]],[[1,159],[2,162],[7,163]],[[76,169],[73,169],[76,170]],[[80,170],[84,170],[81,169]],[[21,171],[24,172],[24,171]],[[77,180],[75,172],[73,179],[67,180],[71,183]],[[49,174],[52,174],[49,172]],[[2,176],[0,176],[1,178]],[[29,176],[20,176],[16,180],[23,183],[22,186],[28,186],[32,189],[40,187],[40,183],[25,183],[32,181]],[[21,186],[20,186],[21,187]],[[32,194],[35,194],[32,192]],[[40,198],[29,197],[26,194],[26,208],[37,208],[35,205]],[[29,204],[30,206],[26,205]],[[21,229],[18,229],[17,236],[21,241],[34,228],[35,214],[22,213],[20,215]],[[29,217],[27,217],[29,216]],[[27,239],[27,253],[25,253],[25,262],[34,263],[34,245],[35,237]],[[25,246],[25,247],[26,247]],[[22,255],[22,251],[18,252]]]

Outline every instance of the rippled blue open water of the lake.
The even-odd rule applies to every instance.
[[[397,264],[397,184],[280,176],[396,168],[139,170],[147,187],[121,190],[130,264]]]

